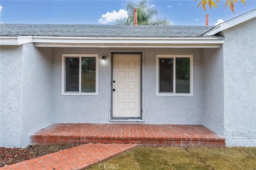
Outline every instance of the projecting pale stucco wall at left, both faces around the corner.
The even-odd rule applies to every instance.
[[[1,147],[25,147],[50,124],[52,49],[1,46]]]

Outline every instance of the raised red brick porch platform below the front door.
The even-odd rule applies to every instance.
[[[30,145],[85,143],[141,144],[153,147],[225,148],[225,138],[203,125],[56,123],[30,136]]]

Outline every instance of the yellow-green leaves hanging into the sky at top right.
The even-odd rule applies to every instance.
[[[214,6],[215,8],[218,8],[216,3],[220,3],[220,0],[195,0],[195,2],[196,1],[199,1],[197,8],[199,6],[201,6],[201,8],[203,8],[204,11],[206,11],[206,8],[205,8],[206,4],[208,4],[209,8],[212,10],[212,6]],[[245,5],[245,0],[241,0],[241,2]],[[235,3],[237,3],[237,0],[226,0],[225,8],[227,8],[227,6],[229,6],[230,10],[233,13],[235,13]]]

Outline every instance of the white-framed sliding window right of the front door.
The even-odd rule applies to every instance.
[[[156,56],[156,95],[193,96],[193,55]]]

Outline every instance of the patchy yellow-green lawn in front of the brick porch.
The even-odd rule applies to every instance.
[[[256,170],[256,148],[137,147],[89,170]]]

